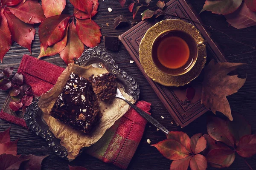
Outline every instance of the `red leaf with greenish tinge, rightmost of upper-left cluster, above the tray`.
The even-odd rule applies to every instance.
[[[95,47],[100,42],[102,36],[100,27],[89,19],[87,20],[76,20],[76,30],[80,40],[87,47]]]

